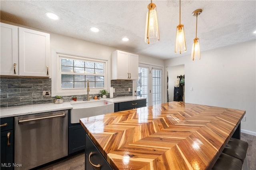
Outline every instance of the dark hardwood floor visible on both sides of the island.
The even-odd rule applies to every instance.
[[[248,170],[256,170],[256,136],[241,133],[241,140],[248,142]],[[84,170],[84,153],[79,153],[65,160],[50,164],[39,170]]]

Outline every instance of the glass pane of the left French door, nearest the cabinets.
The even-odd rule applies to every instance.
[[[137,96],[147,98],[148,106],[148,68],[139,67],[137,80]]]

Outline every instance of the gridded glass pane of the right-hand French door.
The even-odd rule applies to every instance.
[[[161,75],[162,70],[152,69],[152,104],[161,104]]]

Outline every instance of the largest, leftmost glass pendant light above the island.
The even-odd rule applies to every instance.
[[[160,40],[158,21],[156,14],[156,4],[148,4],[148,12],[146,16],[145,43],[156,43]]]

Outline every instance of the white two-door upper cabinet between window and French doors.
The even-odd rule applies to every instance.
[[[112,52],[112,80],[137,80],[139,59],[137,54],[120,50]]]

